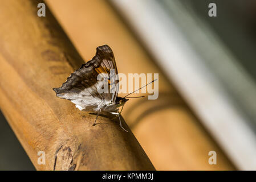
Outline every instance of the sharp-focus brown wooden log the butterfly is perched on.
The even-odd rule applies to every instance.
[[[99,117],[92,126],[95,115],[55,96],[52,88],[84,61],[50,10],[37,16],[39,2],[0,6],[0,107],[36,169],[155,169],[118,121]],[[38,164],[39,151],[46,153],[45,165]]]

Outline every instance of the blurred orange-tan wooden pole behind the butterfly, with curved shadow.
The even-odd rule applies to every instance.
[[[85,60],[91,59],[95,47],[108,44],[115,54],[119,73],[159,73],[159,99],[130,100],[123,110],[125,121],[156,169],[235,169],[172,82],[157,67],[154,61],[157,57],[147,52],[107,1],[46,2]],[[217,165],[208,163],[208,152],[212,150],[217,152]]]

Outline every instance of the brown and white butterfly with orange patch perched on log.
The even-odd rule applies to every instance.
[[[111,72],[112,70],[114,72]],[[99,80],[99,75],[103,75],[105,79]],[[99,90],[104,84],[107,84],[109,92],[101,93]],[[67,81],[60,88],[53,88],[53,90],[56,92],[57,97],[70,100],[79,110],[97,112],[93,126],[96,124],[99,113],[107,111],[119,117],[120,127],[127,131],[121,125],[120,113],[125,102],[129,100],[127,96],[136,90],[125,97],[117,97],[119,78],[115,57],[109,46],[97,47],[96,54],[92,60],[83,64],[81,68],[76,69],[74,73],[71,73],[70,77],[67,78]],[[121,107],[121,111],[119,107]]]

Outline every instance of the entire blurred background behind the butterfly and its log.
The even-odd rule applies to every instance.
[[[108,44],[120,73],[159,73],[159,99],[122,113],[157,170],[256,169],[255,1],[46,4],[85,61]],[[0,170],[35,169],[0,119]]]

